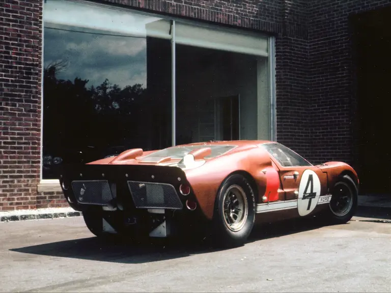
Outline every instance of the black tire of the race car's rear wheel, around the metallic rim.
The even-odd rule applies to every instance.
[[[240,186],[247,198],[247,219],[243,227],[239,231],[232,231],[226,225],[224,219],[223,199],[227,189],[232,185]],[[253,229],[256,215],[256,201],[253,188],[249,182],[241,174],[230,175],[224,183],[222,183],[215,201],[214,218],[214,233],[219,238],[219,241],[225,241],[227,244],[243,243]]]

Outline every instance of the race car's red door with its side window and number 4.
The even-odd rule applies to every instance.
[[[280,143],[267,143],[265,147],[279,169],[285,200],[298,199],[300,189],[310,211],[312,200],[325,194],[327,175]]]

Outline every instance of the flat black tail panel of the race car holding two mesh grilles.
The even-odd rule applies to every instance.
[[[74,208],[97,205],[108,208],[183,210],[193,194],[182,195],[188,184],[181,168],[135,165],[65,165],[59,170],[65,197]]]

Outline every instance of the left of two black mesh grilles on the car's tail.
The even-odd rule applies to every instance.
[[[113,199],[106,180],[73,181],[72,189],[79,203],[105,206]]]

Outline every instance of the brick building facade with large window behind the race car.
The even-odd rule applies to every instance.
[[[67,206],[53,165],[135,147],[272,139],[365,173],[355,36],[388,5],[5,2],[0,210]]]

